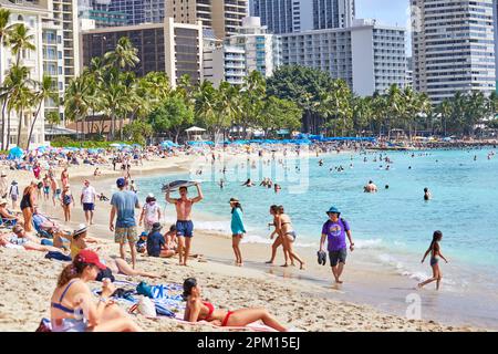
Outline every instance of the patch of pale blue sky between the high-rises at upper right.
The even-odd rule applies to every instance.
[[[408,0],[356,0],[356,19],[377,19],[382,24],[398,25],[407,30],[406,54],[412,55]]]

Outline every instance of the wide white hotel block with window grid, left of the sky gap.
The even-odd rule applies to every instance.
[[[343,79],[361,96],[405,85],[403,28],[354,20],[346,29],[282,34],[282,64],[302,65]]]

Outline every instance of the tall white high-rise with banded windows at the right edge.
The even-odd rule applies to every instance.
[[[414,87],[434,104],[496,90],[494,0],[412,0]]]

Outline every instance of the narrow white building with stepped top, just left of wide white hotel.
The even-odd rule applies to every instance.
[[[246,51],[247,73],[256,70],[269,77],[281,64],[280,38],[268,33],[267,27],[261,27],[259,18],[245,18],[240,34],[228,38],[227,43],[240,46]]]

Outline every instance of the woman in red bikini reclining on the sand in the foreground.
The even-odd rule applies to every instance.
[[[186,279],[184,282],[184,299],[187,301],[184,320],[188,322],[207,321],[221,326],[246,326],[256,321],[262,321],[266,325],[279,332],[287,331],[262,308],[236,311],[215,309],[211,303],[201,300],[200,287],[194,278]]]

